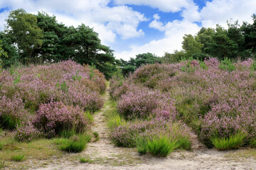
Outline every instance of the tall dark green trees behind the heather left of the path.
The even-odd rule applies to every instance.
[[[4,67],[74,60],[94,65],[107,79],[117,71],[113,50],[102,45],[92,28],[85,24],[65,26],[46,12],[34,15],[22,8],[11,11],[0,41],[0,51],[5,52],[0,52]]]

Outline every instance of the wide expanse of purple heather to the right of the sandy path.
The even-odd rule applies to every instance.
[[[149,131],[169,134],[166,130],[171,128],[149,126],[161,119],[166,121],[164,127],[179,122],[188,132],[190,127],[207,147],[216,147],[218,140],[231,146],[232,142],[225,141],[232,141],[239,132],[247,134],[238,141],[239,147],[252,144],[256,135],[255,75],[253,60],[232,62],[210,57],[178,64],[147,64],[122,81],[112,79],[110,95],[117,100],[119,114],[129,120],[114,129],[112,138],[118,145],[131,147],[136,145],[137,136],[153,137]],[[188,138],[178,135],[185,145],[189,143],[187,134]]]

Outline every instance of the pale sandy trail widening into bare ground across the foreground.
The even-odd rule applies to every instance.
[[[105,94],[105,100],[109,100],[108,93]],[[193,135],[193,151],[173,152],[167,158],[155,158],[149,154],[140,156],[134,148],[114,147],[103,115],[108,107],[105,106],[94,115],[95,126],[92,131],[99,133],[99,141],[90,142],[81,154],[67,154],[65,158],[40,169],[256,169],[256,159],[236,157],[247,150],[219,152],[207,149],[198,142],[196,135]],[[92,162],[81,164],[79,157]]]

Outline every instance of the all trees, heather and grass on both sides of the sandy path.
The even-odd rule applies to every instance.
[[[106,79],[112,109],[105,116],[118,147],[166,157],[191,150],[195,135],[219,150],[256,147],[255,15],[252,21],[201,28],[184,35],[181,51],[124,61],[84,24],[11,11],[0,32],[0,169],[100,140],[91,127]]]

